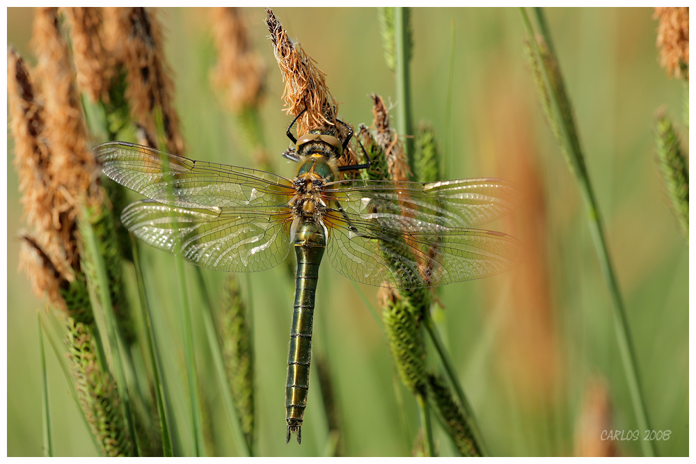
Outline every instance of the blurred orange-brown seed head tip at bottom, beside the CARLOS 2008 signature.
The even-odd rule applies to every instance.
[[[585,387],[580,415],[576,423],[576,456],[617,456],[614,440],[602,440],[612,431],[612,411],[609,390],[599,378]]]

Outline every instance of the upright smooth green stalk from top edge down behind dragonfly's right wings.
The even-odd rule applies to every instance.
[[[411,26],[410,10],[397,7],[394,11],[394,42],[396,52],[397,130],[406,138],[404,151],[409,166],[413,166],[413,116],[411,115]]]

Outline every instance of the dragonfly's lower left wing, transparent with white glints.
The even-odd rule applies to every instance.
[[[174,217],[175,216],[175,219]],[[123,209],[121,220],[136,237],[198,266],[226,272],[264,271],[290,250],[290,214],[283,209],[190,209],[152,200]]]

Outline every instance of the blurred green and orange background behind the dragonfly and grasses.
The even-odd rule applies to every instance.
[[[371,93],[382,95],[387,104],[399,104],[393,74],[383,60],[376,10],[278,8],[274,13],[327,74],[343,120],[370,125]],[[215,61],[209,12],[167,9],[157,14],[166,27],[185,155],[254,166],[235,118],[209,86]],[[668,79],[658,65],[653,10],[550,9],[546,14],[605,218],[649,417],[655,430],[671,431],[669,440],[656,443],[658,453],[686,456],[688,246],[670,211],[654,154],[658,107],[665,105],[684,127],[682,83]],[[246,10],[255,47],[269,69],[262,122],[276,173],[292,177],[296,167],[280,158],[289,142],[284,132],[290,118],[281,111],[283,83],[266,37],[265,16],[262,8]],[[8,8],[8,44],[29,63],[35,62],[29,47],[32,17],[31,9]],[[523,54],[519,10],[418,8],[412,19],[414,119],[432,123],[441,147],[450,148],[445,154],[447,177],[502,177],[521,186],[521,206],[514,217],[490,228],[521,239],[528,247],[528,262],[505,275],[440,291],[445,310],[438,314],[439,326],[491,454],[569,455],[578,452],[588,433],[585,440],[596,440],[603,428],[635,430],[610,296],[576,179],[537,104]],[[683,138],[688,142],[686,129]],[[12,148],[8,139],[8,455],[33,456],[42,454],[36,312],[45,303],[16,272],[23,219]],[[155,330],[167,341],[166,374],[183,398],[186,381],[177,292],[172,291],[173,258],[151,248],[144,251]],[[132,280],[132,269],[126,272]],[[217,296],[224,275],[204,272],[209,290]],[[282,266],[253,273],[249,279],[258,372],[258,452],[321,455],[326,430],[316,378],[303,444],[285,445],[283,440],[292,282]],[[376,305],[375,288],[358,288]],[[200,320],[194,325],[200,378],[206,385],[214,380],[207,370],[210,362]],[[319,280],[313,348],[329,362],[347,456],[410,455],[418,431],[415,401],[398,380],[380,326],[356,287],[326,261]],[[79,408],[48,345],[47,362],[56,454],[94,455]],[[208,423],[216,443],[222,444],[216,451],[235,454],[226,440],[230,426],[222,408],[215,407],[219,397],[214,389],[205,391]],[[186,408],[181,406],[178,413],[185,422]],[[606,427],[595,424],[592,429],[592,417],[605,419],[600,422]],[[643,436],[640,431],[641,440]],[[438,426],[436,440],[441,454],[452,454]],[[636,441],[615,445],[618,454],[640,455]],[[184,442],[187,446],[190,443]]]

